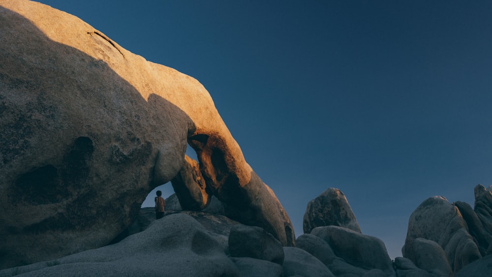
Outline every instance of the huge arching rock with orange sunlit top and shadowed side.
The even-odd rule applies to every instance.
[[[234,219],[292,244],[205,88],[72,15],[0,2],[0,119],[0,268],[108,244],[187,143]]]

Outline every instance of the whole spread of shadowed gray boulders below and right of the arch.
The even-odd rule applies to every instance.
[[[174,194],[166,199],[163,218],[155,220],[154,208],[142,208],[108,246],[5,269],[0,276],[486,277],[492,272],[491,244],[484,247],[491,229],[483,226],[492,219],[484,213],[492,208],[492,186],[477,185],[475,196],[475,210],[464,216],[468,220],[458,208],[462,202],[450,204],[437,196],[425,200],[409,220],[403,257],[391,260],[381,240],[353,230],[360,227],[336,188],[308,203],[304,219],[322,224],[311,225],[295,246],[283,246],[263,228],[226,217],[224,203],[214,196],[207,212],[197,212],[183,210]],[[315,211],[313,203],[324,205]],[[341,219],[347,214],[349,223]],[[484,237],[481,243],[476,234]]]

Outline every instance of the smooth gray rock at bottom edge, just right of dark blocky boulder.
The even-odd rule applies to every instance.
[[[297,247],[283,247],[285,259],[283,274],[285,277],[335,277],[330,270],[318,259]]]

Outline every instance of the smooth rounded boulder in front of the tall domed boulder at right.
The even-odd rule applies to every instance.
[[[417,238],[413,242],[415,265],[437,276],[452,276],[446,253],[436,242]]]

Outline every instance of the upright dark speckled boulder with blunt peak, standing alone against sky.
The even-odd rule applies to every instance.
[[[361,233],[347,198],[337,188],[330,187],[318,197],[307,203],[304,213],[303,229],[305,234],[320,226],[340,226]]]

